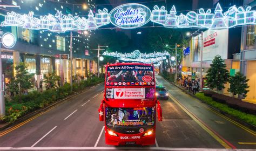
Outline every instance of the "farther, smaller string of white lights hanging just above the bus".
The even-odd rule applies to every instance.
[[[135,50],[131,53],[119,53],[119,52],[107,52],[105,51],[103,56],[116,57],[118,60],[125,62],[142,62],[146,64],[159,63],[161,60],[170,57],[169,52],[153,52],[153,53],[140,53],[139,50]]]

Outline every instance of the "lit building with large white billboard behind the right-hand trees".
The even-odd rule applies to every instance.
[[[206,77],[207,70],[212,64],[215,56],[220,55],[225,60],[226,69],[230,71],[232,67],[232,59],[228,59],[228,29],[223,30],[207,30],[203,33],[203,44],[201,35],[191,38],[190,52],[184,54],[181,68],[181,75],[192,79],[192,72],[195,73],[195,79],[200,78],[201,58],[200,52],[203,46],[203,65],[202,75]],[[224,94],[228,94],[228,84],[224,85]]]

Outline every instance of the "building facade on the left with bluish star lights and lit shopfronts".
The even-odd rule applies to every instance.
[[[28,13],[33,15],[55,14],[57,10],[63,14],[87,15],[89,9],[95,10],[95,4],[88,1],[85,4],[87,10],[76,1],[24,1],[24,0],[3,0],[3,5],[17,5],[19,8],[4,8],[0,11],[0,21],[9,11],[17,13]],[[55,72],[60,75],[63,81],[70,80],[70,32],[54,33],[44,30],[30,30],[12,27],[1,28],[3,32],[11,32],[15,35],[17,42],[11,49],[6,49],[2,45],[3,73],[5,83],[13,76],[9,73],[11,65],[24,62],[28,65],[30,73],[35,74],[35,80],[39,83],[44,74]],[[73,75],[87,77],[89,72],[97,73],[97,63],[93,61],[93,53],[90,51],[90,36],[94,31],[73,31],[72,51],[73,51]],[[40,79],[40,80],[39,80]],[[38,84],[39,86],[39,84]]]

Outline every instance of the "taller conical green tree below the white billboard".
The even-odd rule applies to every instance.
[[[206,74],[207,84],[211,89],[217,88],[219,93],[219,90],[225,88],[224,84],[230,78],[230,73],[226,70],[227,65],[224,63],[224,59],[221,59],[219,55],[214,57],[210,66]]]

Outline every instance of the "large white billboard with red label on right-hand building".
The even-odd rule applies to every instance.
[[[200,50],[202,46],[201,35],[192,38],[193,61],[201,61]],[[203,34],[203,61],[213,60],[219,54],[221,58],[227,59],[228,29],[207,30]]]

